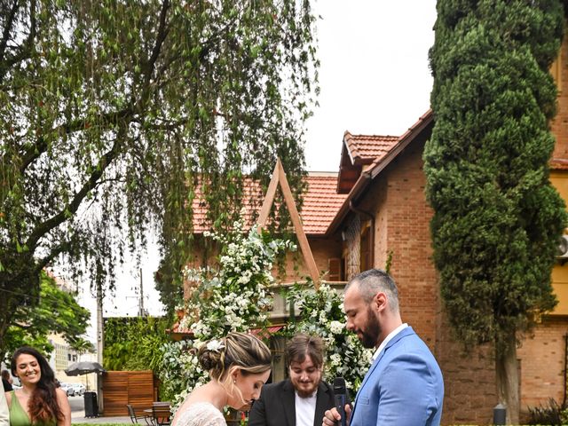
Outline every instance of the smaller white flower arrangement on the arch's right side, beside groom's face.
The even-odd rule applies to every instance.
[[[333,383],[335,377],[342,376],[347,388],[358,390],[371,365],[373,351],[365,349],[357,335],[347,330],[341,294],[323,282],[318,290],[296,285],[288,291],[287,299],[298,308],[301,319],[290,322],[286,334],[319,335],[327,350],[325,380]]]

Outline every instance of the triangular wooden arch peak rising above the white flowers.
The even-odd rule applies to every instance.
[[[294,201],[294,196],[290,190],[290,185],[288,185],[288,179],[286,178],[286,172],[282,167],[280,158],[276,159],[276,166],[272,172],[272,179],[270,180],[270,185],[268,185],[268,190],[264,196],[263,207],[260,209],[260,215],[258,217],[258,227],[256,231],[258,233],[262,232],[266,221],[268,220],[268,215],[270,214],[270,209],[272,208],[272,203],[274,202],[274,196],[276,195],[276,188],[280,184],[282,189],[282,194],[284,195],[284,201],[286,201],[286,207],[290,212],[290,218],[292,219],[292,224],[294,224],[294,230],[298,237],[298,242],[300,243],[300,249],[304,255],[304,262],[310,272],[310,276],[313,280],[313,285],[316,290],[319,288],[319,273],[318,267],[316,266],[315,260],[313,260],[312,249],[308,243],[308,239],[304,233],[304,226],[302,225],[302,219],[296,209],[296,201]]]

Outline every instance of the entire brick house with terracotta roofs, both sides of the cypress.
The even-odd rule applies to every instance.
[[[565,58],[568,36],[551,68],[559,97],[558,113],[551,123],[556,147],[550,161],[550,180],[568,204]],[[433,114],[428,111],[400,137],[345,132],[338,174],[311,173],[306,177],[308,189],[301,217],[318,269],[326,272],[324,280],[341,287],[360,271],[390,264],[399,288],[402,318],[430,346],[444,374],[443,424],[488,424],[498,402],[491,347],[465,353],[454,341],[439,296],[438,275],[430,260],[432,210],[424,195],[422,152],[432,127]],[[198,210],[194,206],[194,211]],[[199,237],[207,225],[199,223],[199,214],[195,217],[194,229]],[[294,270],[293,259],[288,259],[282,283],[306,275],[301,256],[299,259],[299,270]],[[549,398],[560,404],[566,398],[568,264],[564,260],[556,264],[552,279],[559,304],[555,312],[541,318],[517,351],[522,414],[528,406],[548,404]],[[275,307],[278,321],[285,320],[286,314],[286,307]]]

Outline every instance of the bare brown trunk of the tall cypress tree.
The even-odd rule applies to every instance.
[[[507,407],[507,424],[518,424],[519,386],[517,338],[513,333],[505,342],[496,343],[495,373],[499,402]]]

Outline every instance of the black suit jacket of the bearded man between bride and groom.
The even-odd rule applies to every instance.
[[[334,390],[327,383],[319,383],[314,426],[321,426],[323,414],[332,406]],[[263,386],[248,414],[248,426],[296,426],[294,386],[289,380]]]

